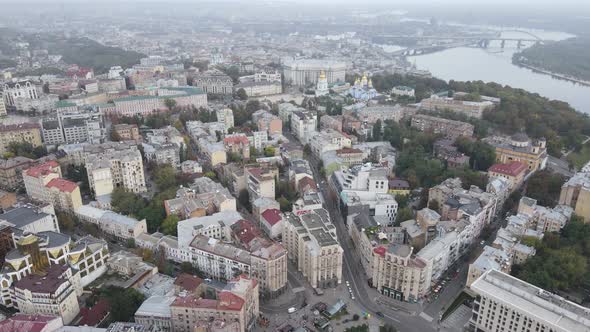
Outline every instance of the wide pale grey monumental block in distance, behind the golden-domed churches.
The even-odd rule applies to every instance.
[[[291,85],[316,84],[324,73],[328,84],[344,82],[346,63],[334,60],[299,59],[283,62],[285,83]]]

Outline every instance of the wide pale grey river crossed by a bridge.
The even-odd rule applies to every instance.
[[[561,40],[571,35],[560,32],[533,31],[541,38]],[[506,38],[530,38],[518,32],[504,32]],[[418,69],[429,70],[433,76],[444,80],[496,82],[527,91],[536,92],[550,99],[563,100],[580,112],[590,114],[590,87],[535,73],[512,64],[517,52],[516,42],[493,42],[488,49],[459,47],[445,51],[409,57]]]

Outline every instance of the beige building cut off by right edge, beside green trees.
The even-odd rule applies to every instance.
[[[590,222],[590,172],[576,173],[561,186],[559,204],[572,207],[584,222]]]

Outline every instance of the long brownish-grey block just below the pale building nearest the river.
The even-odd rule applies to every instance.
[[[442,134],[451,140],[456,140],[461,136],[472,137],[475,127],[467,122],[416,114],[412,117],[412,128],[416,128],[420,131]]]

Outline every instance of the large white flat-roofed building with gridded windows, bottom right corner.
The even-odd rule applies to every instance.
[[[590,310],[506,273],[490,270],[471,290],[477,294],[473,331],[588,331]]]

